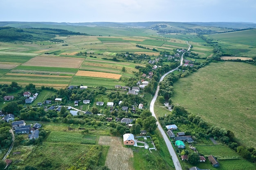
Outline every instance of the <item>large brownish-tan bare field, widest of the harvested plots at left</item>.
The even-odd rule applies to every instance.
[[[22,64],[23,66],[44,66],[44,67],[66,67],[79,68],[83,63],[83,58],[56,57],[56,56],[36,56]]]

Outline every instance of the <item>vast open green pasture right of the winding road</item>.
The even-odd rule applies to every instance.
[[[233,131],[245,146],[256,147],[255,72],[256,67],[250,64],[211,63],[175,82],[173,103],[211,125]]]

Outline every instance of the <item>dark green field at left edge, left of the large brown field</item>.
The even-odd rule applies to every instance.
[[[13,62],[13,63],[24,63],[33,58],[34,56],[31,55],[6,55],[0,54],[0,61],[1,62]]]

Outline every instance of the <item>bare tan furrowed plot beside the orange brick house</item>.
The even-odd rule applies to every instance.
[[[101,136],[99,144],[110,146],[105,162],[110,170],[134,170],[130,160],[133,157],[132,149],[124,148],[120,137]]]

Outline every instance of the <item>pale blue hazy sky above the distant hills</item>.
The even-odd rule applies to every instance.
[[[1,0],[0,21],[256,23],[256,0]]]

